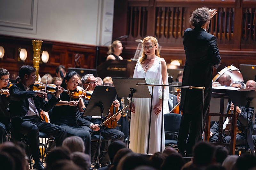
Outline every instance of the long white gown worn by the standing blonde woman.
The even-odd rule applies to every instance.
[[[147,84],[158,84],[162,85],[162,65],[160,59],[152,67],[150,67],[147,72],[145,72],[138,61],[134,70],[134,78],[145,78]],[[168,78],[166,75],[166,84],[168,85]],[[146,86],[145,86],[146,87]],[[151,94],[152,87],[148,86]],[[154,154],[155,152],[160,152],[161,145],[161,123],[162,123],[162,111],[155,115],[153,108],[159,100],[159,96],[162,99],[162,87],[155,86],[153,93],[153,104],[152,104],[152,115],[151,115],[151,128],[150,128],[150,141],[149,141],[149,153]],[[151,98],[133,98],[135,105],[135,113],[131,115],[131,132],[130,132],[130,149],[136,153],[147,153],[148,146],[148,128],[149,128],[149,112]],[[168,100],[169,99],[169,89],[166,87],[164,90],[164,113],[169,110]],[[169,113],[169,112],[168,112]],[[163,142],[162,151],[164,151],[164,124],[163,124]]]

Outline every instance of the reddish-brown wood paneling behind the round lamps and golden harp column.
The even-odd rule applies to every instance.
[[[32,40],[28,38],[0,35],[0,46],[4,47],[5,54],[0,59],[0,68],[10,72],[10,78],[15,79],[22,65],[33,66]],[[26,61],[19,60],[19,48],[25,48],[28,52]],[[98,64],[107,58],[107,47],[99,48]],[[68,67],[95,69],[96,68],[96,46],[86,44],[73,44],[56,41],[43,41],[41,51],[48,51],[49,61],[41,62],[39,74],[42,77],[46,73],[55,76],[55,69],[59,65]]]

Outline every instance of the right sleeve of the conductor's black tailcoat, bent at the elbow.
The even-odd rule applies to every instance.
[[[209,56],[212,65],[217,69],[220,65],[221,58],[215,36],[212,36],[212,38],[209,40]]]

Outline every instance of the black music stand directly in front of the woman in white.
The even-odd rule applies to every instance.
[[[153,97],[153,88],[152,95],[148,88],[137,86],[136,83],[146,83],[145,78],[118,78],[112,77],[113,84],[116,87],[116,92],[118,97],[128,97],[132,101],[132,98],[151,98],[151,106],[150,106],[150,116],[149,116],[149,129],[148,129],[148,147],[149,147],[149,137],[150,137],[150,127],[151,127],[151,112],[152,112],[152,97]],[[129,133],[127,140],[127,147],[130,146],[130,129],[131,129],[131,105],[130,105],[130,118],[129,121]]]

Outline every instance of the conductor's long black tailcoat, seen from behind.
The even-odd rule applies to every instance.
[[[220,64],[220,53],[216,37],[207,33],[201,27],[188,28],[183,35],[183,45],[186,62],[182,78],[182,85],[205,87],[205,110],[211,100],[212,70]],[[183,114],[196,114],[202,110],[202,90],[181,89],[180,110]]]

